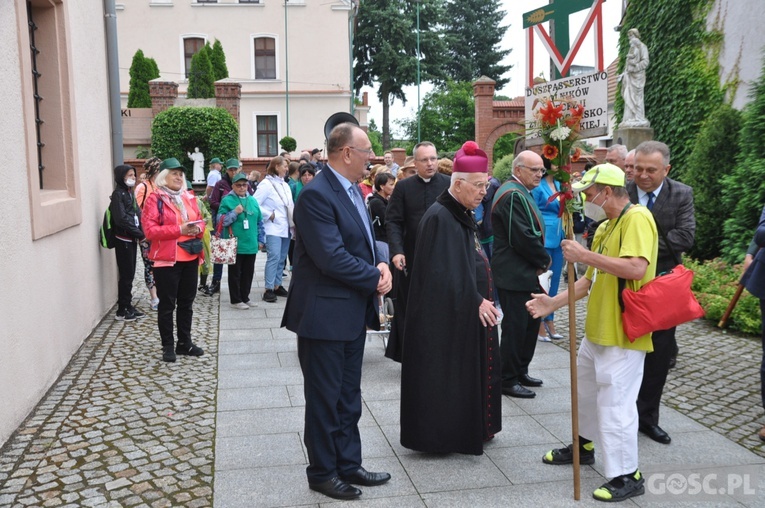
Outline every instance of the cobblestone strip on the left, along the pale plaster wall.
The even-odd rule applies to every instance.
[[[139,257],[140,258],[140,257]],[[218,298],[194,303],[205,356],[161,360],[143,265],[134,304],[112,309],[0,450],[0,506],[212,506]]]

